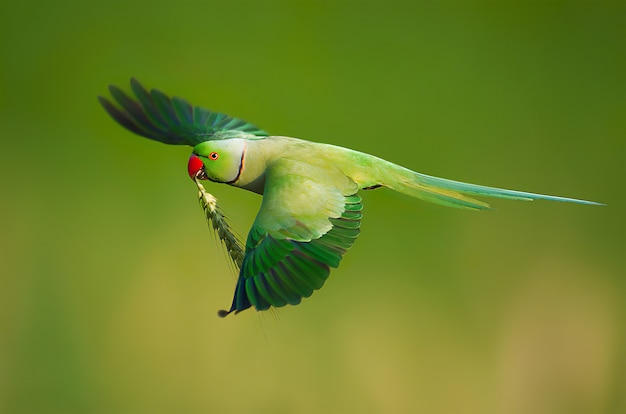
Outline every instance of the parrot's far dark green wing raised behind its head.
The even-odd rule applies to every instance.
[[[136,79],[131,79],[130,86],[135,99],[120,88],[109,86],[120,108],[102,96],[98,100],[120,125],[143,137],[193,147],[212,139],[269,135],[241,119],[192,106],[181,98],[169,98],[156,89],[148,91]]]

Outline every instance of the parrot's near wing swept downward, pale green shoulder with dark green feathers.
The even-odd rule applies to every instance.
[[[232,306],[220,316],[251,306],[265,310],[300,303],[322,287],[330,268],[339,266],[359,234],[359,196],[344,196],[337,187],[318,181],[323,171],[294,173],[314,167],[292,160],[277,164],[267,172]]]

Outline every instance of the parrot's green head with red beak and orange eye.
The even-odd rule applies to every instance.
[[[243,170],[246,141],[241,138],[205,141],[193,149],[187,171],[192,180],[234,183]]]

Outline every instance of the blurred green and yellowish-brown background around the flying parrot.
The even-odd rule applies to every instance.
[[[0,3],[0,412],[626,412],[620,2]],[[431,175],[607,203],[366,192],[297,307],[235,275],[148,87]],[[245,234],[260,198],[209,185]]]

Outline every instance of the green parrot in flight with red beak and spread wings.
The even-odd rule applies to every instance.
[[[270,135],[242,119],[193,106],[130,81],[134,97],[110,85],[111,100],[98,100],[127,130],[170,145],[193,147],[192,180],[239,187],[262,196],[245,241],[243,260],[224,317],[298,305],[320,289],[360,233],[361,190],[388,188],[444,206],[487,210],[475,197],[581,199],[506,190],[429,176],[341,146]]]

